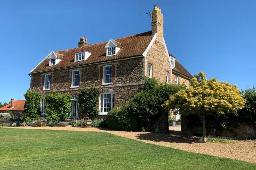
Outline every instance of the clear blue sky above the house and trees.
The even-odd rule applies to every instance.
[[[24,99],[32,70],[52,50],[151,30],[157,4],[168,50],[192,74],[240,89],[256,84],[256,1],[1,1],[0,102]],[[173,29],[175,27],[175,29]]]

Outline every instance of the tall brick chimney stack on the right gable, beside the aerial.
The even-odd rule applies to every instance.
[[[155,5],[152,11],[152,35],[157,33],[157,37],[163,39],[164,37],[164,16],[161,13],[161,9]]]

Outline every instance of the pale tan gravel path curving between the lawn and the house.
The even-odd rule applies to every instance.
[[[67,131],[97,131],[116,134],[118,136],[143,141],[146,143],[181,149],[195,153],[232,158],[241,161],[256,163],[256,147],[253,141],[237,141],[234,144],[217,143],[197,143],[195,136],[185,136],[180,134],[180,127],[169,127],[169,134],[150,132],[126,132],[111,131],[105,128],[82,128],[82,127],[7,127],[19,129],[48,129]]]

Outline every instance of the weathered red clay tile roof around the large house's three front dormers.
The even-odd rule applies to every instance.
[[[55,66],[48,66],[49,60],[46,58],[30,73],[45,71],[45,70],[52,70],[57,68],[65,68],[69,66],[80,66],[84,64],[98,63],[98,62],[122,59],[122,58],[127,58],[132,56],[140,56],[147,49],[152,38],[153,36],[151,35],[151,31],[148,31],[148,32],[144,32],[144,33],[133,35],[133,36],[115,39],[115,42],[117,42],[118,45],[122,46],[122,48],[119,50],[119,52],[115,56],[108,56],[108,57],[106,56],[106,49],[105,49],[105,45],[107,44],[107,41],[101,42],[98,44],[77,47],[73,49],[56,51],[55,54],[58,57],[63,55],[63,59],[58,64],[56,64]],[[82,52],[82,51],[88,51],[88,52],[91,52],[92,54],[87,58],[87,60],[74,62],[75,53]]]

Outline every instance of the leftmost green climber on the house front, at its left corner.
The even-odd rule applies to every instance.
[[[40,114],[41,94],[28,90],[26,94],[24,94],[24,97],[26,99],[26,102],[24,105],[23,119],[25,119],[25,121],[27,122],[33,119],[39,119],[41,117],[41,114]]]

